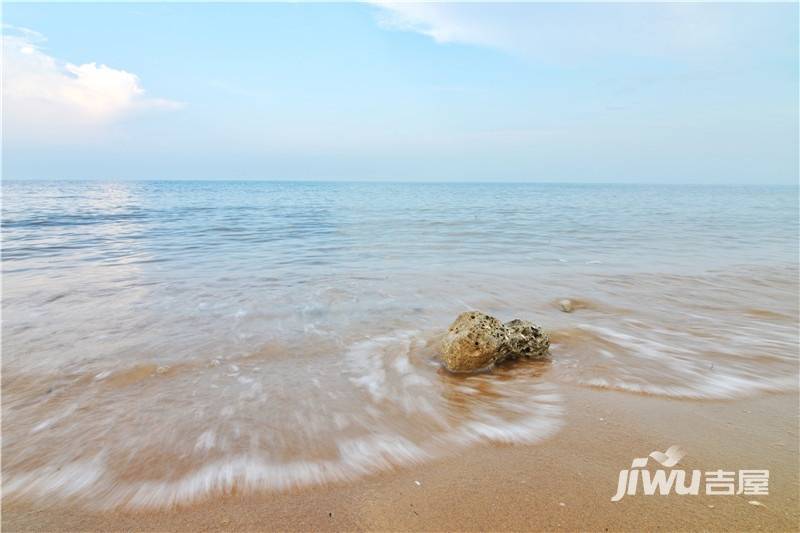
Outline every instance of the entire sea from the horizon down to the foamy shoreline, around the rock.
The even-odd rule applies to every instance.
[[[6,182],[2,201],[8,497],[355,479],[537,442],[575,386],[797,388],[797,188]],[[444,373],[438,336],[473,308],[541,323],[552,360]]]

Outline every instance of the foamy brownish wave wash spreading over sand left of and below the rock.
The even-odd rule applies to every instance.
[[[425,338],[364,339],[333,363],[251,357],[161,374],[137,365],[80,379],[57,400],[12,402],[5,422],[20,426],[4,442],[4,497],[164,508],[352,481],[560,428],[561,397],[541,369],[450,376]],[[47,431],[36,429],[45,414]]]

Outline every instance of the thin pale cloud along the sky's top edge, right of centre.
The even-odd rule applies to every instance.
[[[371,2],[386,28],[438,43],[500,49],[545,62],[602,56],[681,56],[720,52],[741,36],[756,9],[661,3],[416,3]],[[734,13],[735,14],[735,13]]]

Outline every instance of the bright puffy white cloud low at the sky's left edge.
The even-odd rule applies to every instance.
[[[4,134],[52,139],[91,133],[148,109],[182,104],[151,98],[139,77],[97,63],[74,65],[42,50],[44,37],[26,28],[3,27]]]

